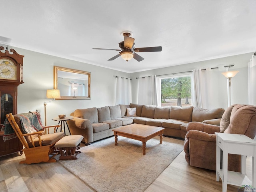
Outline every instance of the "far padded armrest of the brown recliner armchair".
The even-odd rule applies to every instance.
[[[198,131],[214,134],[215,132],[220,132],[220,126],[201,123],[201,122],[189,122],[187,126],[187,132],[189,130],[198,130]]]

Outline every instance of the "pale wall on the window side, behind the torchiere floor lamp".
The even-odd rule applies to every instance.
[[[232,78],[231,84],[231,104],[242,103],[248,104],[248,62],[252,57],[253,53],[240,54],[236,56],[229,56],[225,58],[212,59],[201,62],[194,62],[189,64],[183,64],[178,66],[159,68],[155,70],[148,70],[143,72],[136,72],[130,74],[132,78],[132,102],[138,103],[138,80],[136,77],[150,76],[150,75],[163,75],[163,74],[172,74],[178,72],[192,71],[193,69],[199,68],[214,68],[219,67],[217,70],[220,72],[225,72],[228,66],[234,64],[234,67],[228,68],[228,70],[239,70],[240,72]],[[156,64],[157,65],[157,64]],[[214,69],[216,70],[216,69]],[[225,76],[218,75],[214,79],[216,86],[209,87],[210,89],[218,89],[220,96],[216,100],[210,100],[210,108],[221,107],[226,109],[228,107],[228,92],[227,92],[227,80]]]

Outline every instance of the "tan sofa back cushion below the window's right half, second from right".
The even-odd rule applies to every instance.
[[[171,106],[170,119],[191,121],[192,111],[193,111],[193,106],[188,106],[188,107]]]

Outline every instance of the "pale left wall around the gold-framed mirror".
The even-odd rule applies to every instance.
[[[6,47],[5,45],[0,44]],[[58,118],[59,114],[74,112],[75,109],[103,107],[115,104],[115,77],[130,77],[130,74],[94,66],[82,62],[76,62],[40,54],[29,50],[9,47],[16,50],[20,55],[24,55],[23,60],[23,81],[24,84],[18,86],[18,113],[35,111],[41,113],[44,123],[44,102],[46,90],[53,89],[53,66],[61,66],[76,70],[91,72],[91,99],[90,100],[56,100],[47,103],[47,125],[56,124],[52,118]]]

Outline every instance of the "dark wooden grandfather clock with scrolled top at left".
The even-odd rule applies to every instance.
[[[14,49],[8,51],[8,46],[0,47],[0,130],[6,119],[6,114],[17,114],[18,86],[23,82],[23,55]],[[22,144],[18,138],[3,140],[4,131],[0,131],[0,156],[21,152]]]

